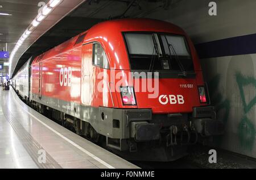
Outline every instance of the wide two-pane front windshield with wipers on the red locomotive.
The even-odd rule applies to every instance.
[[[193,72],[193,61],[184,36],[126,33],[131,70]]]

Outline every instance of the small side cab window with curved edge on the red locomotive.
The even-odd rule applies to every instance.
[[[102,46],[98,43],[93,44],[93,65],[100,68],[109,69],[108,58]]]

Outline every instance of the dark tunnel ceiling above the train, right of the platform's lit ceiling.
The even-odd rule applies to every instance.
[[[88,30],[94,24],[119,18],[143,18],[181,0],[88,0],[41,36],[20,57],[13,74],[30,58]]]

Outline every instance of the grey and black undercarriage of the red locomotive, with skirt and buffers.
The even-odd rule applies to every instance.
[[[84,121],[40,103],[32,106],[127,160],[174,161],[185,156],[190,145],[208,143],[224,132],[213,107],[195,107],[191,114],[99,107],[91,108],[93,119]]]

